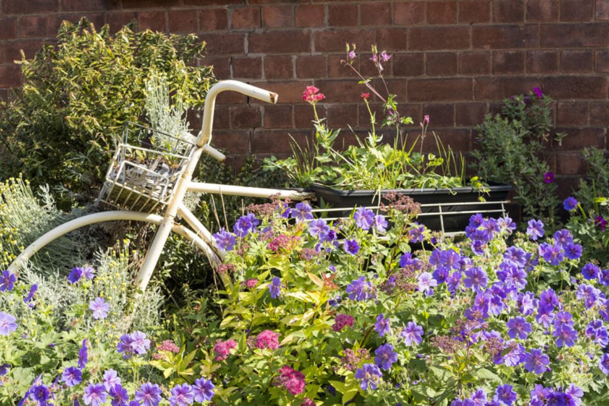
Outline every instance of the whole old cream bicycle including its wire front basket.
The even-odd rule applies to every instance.
[[[137,124],[127,124],[98,198],[99,201],[108,203],[119,210],[84,215],[57,226],[23,250],[10,264],[9,270],[15,272],[48,243],[77,228],[114,220],[135,220],[158,226],[136,278],[136,285],[141,291],[144,291],[167,238],[172,232],[188,239],[208,257],[213,267],[217,267],[224,259],[223,252],[217,247],[209,230],[184,205],[186,192],[312,200],[314,195],[308,192],[192,181],[192,173],[202,153],[207,153],[217,161],[225,159],[222,153],[209,145],[209,142],[211,141],[216,97],[219,93],[228,90],[238,91],[269,103],[276,103],[278,98],[276,93],[236,80],[216,83],[209,89],[205,99],[201,131],[196,138],[192,135],[173,136],[161,133],[165,139],[170,139],[171,150],[155,147],[149,142],[148,138],[160,131],[149,130]],[[133,137],[129,136],[128,131],[134,130],[138,131],[137,139],[140,145],[129,144],[128,139],[133,139]],[[192,229],[178,223],[177,215],[180,215]]]

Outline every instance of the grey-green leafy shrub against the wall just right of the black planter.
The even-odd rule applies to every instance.
[[[550,169],[542,158],[551,137],[551,105],[551,97],[539,98],[532,92],[505,99],[501,114],[487,114],[476,127],[471,167],[486,181],[511,184],[526,219],[554,223],[556,184],[544,181]],[[558,133],[554,140],[560,142],[563,136]]]

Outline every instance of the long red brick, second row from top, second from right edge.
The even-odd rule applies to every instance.
[[[474,26],[471,38],[474,48],[532,48],[539,42],[535,26]]]

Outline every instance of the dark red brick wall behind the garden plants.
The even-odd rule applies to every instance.
[[[196,32],[208,43],[219,79],[239,79],[276,91],[278,105],[226,95],[216,111],[215,143],[234,153],[286,155],[289,136],[312,136],[306,85],[326,95],[331,127],[367,128],[361,86],[340,65],[345,42],[368,51],[377,43],[393,58],[385,66],[392,93],[415,123],[445,144],[468,151],[472,127],[510,94],[540,86],[557,100],[557,127],[569,136],[547,156],[563,189],[585,172],[583,145],[607,148],[609,0],[0,0],[0,88],[18,85],[12,64],[31,56],[62,19],[86,15],[116,29]],[[371,73],[361,55],[357,63]],[[5,90],[4,90],[5,91]],[[375,108],[379,108],[375,104]],[[343,130],[346,142],[353,142]]]

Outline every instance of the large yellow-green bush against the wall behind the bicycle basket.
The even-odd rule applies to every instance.
[[[23,87],[2,105],[0,178],[24,171],[36,184],[57,185],[62,206],[89,201],[105,174],[113,140],[125,121],[143,114],[146,80],[161,72],[169,91],[202,108],[213,81],[210,67],[192,66],[205,43],[193,35],[164,35],[123,27],[97,31],[83,18],[64,22],[57,43],[23,58]]]

